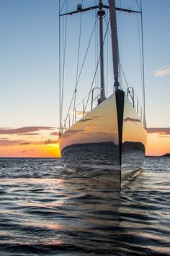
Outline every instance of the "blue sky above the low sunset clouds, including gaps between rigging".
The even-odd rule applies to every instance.
[[[69,10],[75,9],[79,2],[68,1]],[[95,2],[84,0],[84,7]],[[121,2],[122,7],[138,9],[133,0],[116,2],[117,6]],[[170,1],[142,2],[147,124],[148,127],[170,127]],[[65,113],[75,86],[79,31],[79,17],[68,19],[71,40],[67,44],[66,83],[69,86],[66,89]],[[94,24],[93,12],[84,14],[83,19],[82,52]],[[125,67],[128,82],[140,98],[137,18],[133,14],[118,13],[117,20],[120,61]],[[58,0],[0,0],[0,38],[0,127],[58,127]],[[90,57],[91,54],[87,61]],[[93,64],[86,64],[91,77]],[[109,64],[112,64],[111,58]],[[109,73],[109,92],[112,92],[110,68]],[[89,91],[91,77],[85,72],[81,77],[84,95]],[[79,99],[84,98],[81,92],[78,95]]]

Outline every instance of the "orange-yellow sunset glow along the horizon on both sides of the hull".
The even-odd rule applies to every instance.
[[[17,140],[16,135],[11,136],[13,140]],[[37,138],[35,142],[27,143],[25,139],[21,144],[0,145],[0,157],[61,158],[58,142],[47,140],[48,142],[45,143]],[[148,133],[146,155],[158,156],[166,153],[170,153],[170,136],[158,132]]]

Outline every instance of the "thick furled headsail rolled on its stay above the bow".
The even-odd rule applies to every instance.
[[[113,61],[113,73],[114,73],[114,88],[120,89],[119,83],[119,48],[117,38],[117,21],[116,21],[116,7],[115,0],[109,0],[109,17],[110,27],[112,35],[112,61]]]

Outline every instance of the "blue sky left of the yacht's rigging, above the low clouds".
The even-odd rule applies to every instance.
[[[57,1],[0,1],[1,126],[57,126]]]

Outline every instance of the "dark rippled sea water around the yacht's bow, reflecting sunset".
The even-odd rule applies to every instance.
[[[0,159],[0,255],[170,255],[170,158],[118,192],[59,159]]]

